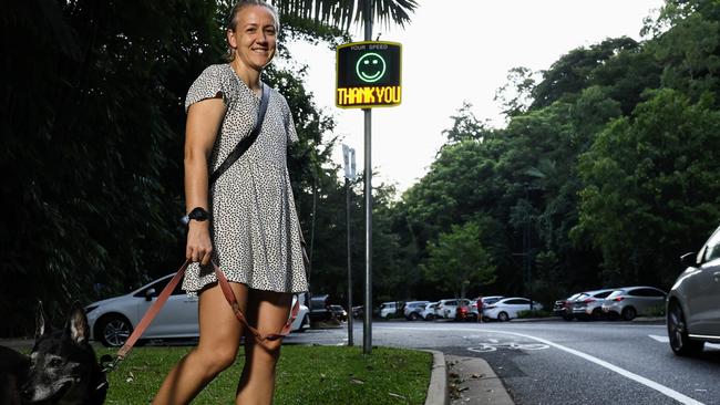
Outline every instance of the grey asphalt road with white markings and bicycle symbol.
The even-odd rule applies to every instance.
[[[361,323],[353,336],[362,344]],[[373,323],[372,338],[374,345],[482,357],[517,404],[720,404],[720,345],[676,356],[662,324],[397,321]],[[347,328],[286,342],[346,344]]]

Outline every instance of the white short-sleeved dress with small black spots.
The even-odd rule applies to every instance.
[[[208,66],[185,98],[185,111],[199,101],[222,95],[227,107],[209,160],[215,170],[249,135],[260,98],[229,64]],[[287,146],[297,142],[285,97],[270,90],[260,134],[209,188],[213,260],[229,281],[251,289],[305,292],[307,274],[287,167]],[[217,281],[210,266],[192,263],[183,290],[196,294]]]

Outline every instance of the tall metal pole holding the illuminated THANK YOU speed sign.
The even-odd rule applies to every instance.
[[[372,41],[372,0],[366,0],[366,41]],[[372,353],[372,110],[364,112],[364,194],[366,194],[366,299],[362,328],[362,353]]]

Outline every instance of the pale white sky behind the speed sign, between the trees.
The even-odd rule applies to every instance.
[[[418,183],[444,143],[443,129],[463,102],[492,126],[505,125],[495,92],[516,66],[548,69],[568,51],[606,38],[641,40],[642,20],[656,15],[662,0],[419,0],[404,29],[379,27],[373,39],[402,44],[402,104],[372,110],[373,186],[394,184],[404,191]],[[353,41],[363,40],[360,28]],[[308,65],[306,89],[335,117],[341,144],[364,163],[362,110],[335,106],[336,53],[328,46],[288,44],[295,60]],[[327,136],[326,138],[329,138]]]

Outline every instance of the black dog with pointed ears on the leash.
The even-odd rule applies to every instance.
[[[0,350],[0,405],[100,405],[107,378],[89,343],[85,312],[75,303],[63,329],[53,329],[42,304],[35,314],[35,342],[25,356]]]

